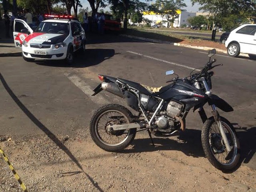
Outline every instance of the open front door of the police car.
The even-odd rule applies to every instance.
[[[33,30],[21,19],[15,19],[13,25],[13,39],[15,47],[21,48],[23,40],[32,34]]]

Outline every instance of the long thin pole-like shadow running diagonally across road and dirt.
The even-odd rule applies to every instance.
[[[8,94],[11,96],[11,98],[14,100],[14,102],[16,102],[16,104],[20,107],[20,109],[24,112],[24,114],[26,114],[26,116],[28,116],[28,118],[30,118],[30,120],[36,126],[38,126],[38,128],[40,128],[40,130],[42,130],[60,149],[62,149],[69,156],[69,158],[78,166],[78,168],[80,168],[80,170],[82,170],[82,172],[84,172],[84,174],[86,174],[86,176],[88,177],[90,182],[98,189],[98,191],[103,192],[103,190],[100,188],[100,186],[98,186],[97,182],[95,182],[93,180],[93,178],[84,171],[84,169],[82,168],[82,166],[80,165],[80,163],[78,162],[76,157],[70,152],[70,150],[68,150],[68,148],[48,128],[46,128],[46,126],[44,126],[44,124],[42,124],[28,110],[28,108],[26,108],[26,106],[24,106],[24,104],[22,104],[22,102],[18,99],[18,97],[14,94],[14,92],[12,92],[11,88],[8,86],[8,84],[6,83],[4,77],[2,76],[1,73],[0,73],[0,80],[1,80],[4,88],[8,92]],[[73,172],[72,174],[74,174],[74,173],[78,174],[80,172],[79,171]]]

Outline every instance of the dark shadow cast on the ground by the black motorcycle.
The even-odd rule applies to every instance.
[[[236,171],[242,163],[248,164],[256,152],[256,127],[242,128],[237,131],[240,140],[240,160],[238,165],[225,173],[232,173]],[[132,144],[132,149],[126,149],[123,153],[140,153],[152,152],[158,150],[177,150],[183,152],[187,156],[195,158],[205,157],[201,144],[201,130],[186,129],[185,132],[180,132],[178,140],[170,138],[153,138],[154,144],[152,146],[150,138],[135,139]],[[209,162],[210,163],[210,162]]]

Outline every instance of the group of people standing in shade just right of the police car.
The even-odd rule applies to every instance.
[[[92,20],[88,19],[88,13],[85,12],[83,16],[83,27],[84,31],[88,32],[90,30],[94,32],[98,32],[99,34],[104,34],[104,24],[105,24],[105,16],[104,13],[96,13],[92,16]]]

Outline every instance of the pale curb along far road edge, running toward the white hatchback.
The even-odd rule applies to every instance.
[[[192,46],[192,45],[188,45],[188,44],[172,43],[172,42],[168,42],[168,41],[160,41],[160,40],[155,40],[155,39],[148,39],[148,38],[137,37],[137,36],[132,36],[132,35],[124,35],[124,34],[120,34],[120,36],[134,38],[134,39],[138,39],[138,40],[150,41],[150,42],[154,42],[154,43],[169,44],[169,45],[174,45],[174,46],[181,46],[181,47],[200,49],[200,50],[206,50],[206,51],[216,49],[217,52],[225,53],[225,54],[227,53],[227,50],[222,50],[222,49],[212,48],[212,47]],[[244,57],[249,57],[248,54],[240,53],[239,55],[244,56]]]

